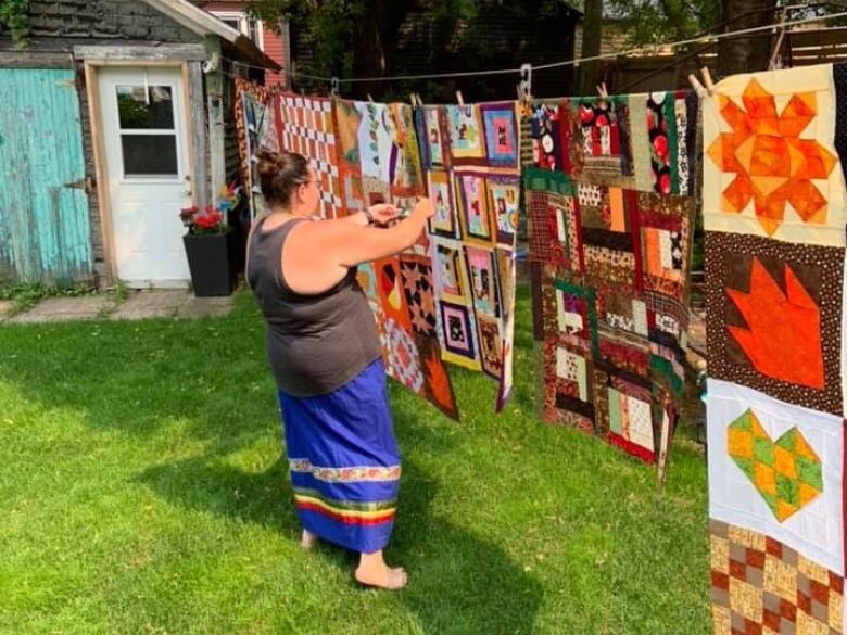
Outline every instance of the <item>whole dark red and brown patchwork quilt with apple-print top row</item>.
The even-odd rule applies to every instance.
[[[527,104],[524,167],[543,416],[658,465],[684,383],[697,100]]]

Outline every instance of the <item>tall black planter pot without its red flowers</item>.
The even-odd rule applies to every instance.
[[[192,234],[182,237],[191,269],[194,295],[212,297],[231,295],[236,288],[236,254],[238,234],[226,233]]]

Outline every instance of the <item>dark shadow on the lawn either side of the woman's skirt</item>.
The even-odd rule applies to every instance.
[[[396,423],[408,423],[404,418],[397,412]],[[153,467],[139,480],[173,504],[257,523],[298,541],[287,467],[280,457],[266,471],[248,473],[212,456]],[[532,633],[541,584],[501,547],[433,516],[437,488],[414,461],[403,461],[399,518],[388,549],[390,561],[410,575],[399,597],[428,634]],[[344,570],[355,567],[353,553],[332,545],[321,545],[314,556]]]

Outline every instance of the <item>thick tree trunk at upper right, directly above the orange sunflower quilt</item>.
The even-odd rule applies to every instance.
[[[775,15],[776,0],[723,0],[721,17],[725,30],[739,30],[772,24]],[[718,74],[725,77],[767,71],[772,46],[769,35],[762,31],[750,37],[721,40],[718,45]]]

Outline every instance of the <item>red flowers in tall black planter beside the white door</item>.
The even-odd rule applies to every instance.
[[[231,295],[236,288],[236,245],[223,212],[212,205],[180,209],[182,237],[194,295]]]

